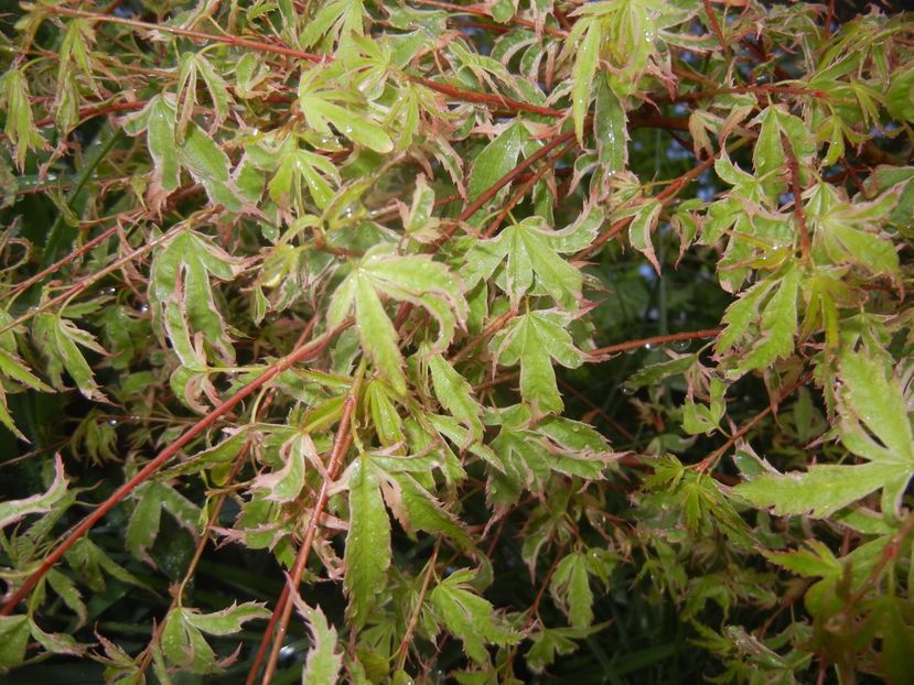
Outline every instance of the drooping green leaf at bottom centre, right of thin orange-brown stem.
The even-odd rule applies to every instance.
[[[441,580],[429,592],[439,621],[461,639],[466,654],[477,664],[487,664],[485,644],[515,644],[520,635],[495,618],[494,607],[470,588],[475,574],[460,569]]]

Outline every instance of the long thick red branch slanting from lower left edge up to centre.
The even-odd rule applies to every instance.
[[[122,501],[130,492],[132,492],[138,486],[146,482],[153,474],[155,474],[159,469],[161,469],[168,461],[175,456],[183,447],[190,444],[195,437],[206,431],[209,426],[212,426],[219,417],[224,416],[233,409],[235,409],[240,402],[247,399],[251,393],[256,390],[265,385],[266,383],[270,382],[277,376],[286,371],[287,369],[291,368],[294,363],[300,361],[304,361],[307,359],[311,359],[312,357],[316,357],[321,352],[326,349],[330,345],[333,337],[352,326],[353,322],[346,322],[341,325],[335,330],[330,330],[325,333],[320,338],[308,342],[307,345],[301,346],[300,348],[295,349],[290,354],[288,357],[280,359],[279,361],[275,362],[269,369],[264,371],[260,376],[254,379],[250,383],[241,388],[238,392],[232,395],[228,400],[219,404],[216,409],[212,412],[206,414],[203,418],[196,422],[191,428],[185,431],[181,437],[174,441],[171,445],[165,447],[162,452],[159,453],[155,458],[150,460],[142,469],[140,469],[136,476],[130,478],[126,481],[122,486],[120,486],[117,490],[115,490],[111,496],[108,497],[104,502],[101,502],[92,513],[89,513],[86,518],[84,518],[75,529],[73,529],[67,536],[56,546],[54,551],[49,554],[44,561],[42,561],[41,565],[34,570],[25,581],[20,586],[20,588],[13,592],[13,595],[6,601],[2,609],[0,609],[0,616],[9,616],[9,613],[15,608],[15,606],[22,601],[29,592],[32,590],[33,587],[41,580],[45,574],[53,568],[54,564],[56,564],[64,554],[79,540],[83,535],[88,533],[96,523],[98,523],[105,514],[107,514],[115,505]]]

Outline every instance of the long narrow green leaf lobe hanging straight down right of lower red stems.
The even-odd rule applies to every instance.
[[[350,616],[364,626],[387,586],[390,566],[390,519],[370,457],[359,457],[350,471],[350,532],[346,535],[346,592]]]

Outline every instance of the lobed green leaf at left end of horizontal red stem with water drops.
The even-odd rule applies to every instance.
[[[515,317],[492,339],[498,363],[520,365],[520,396],[536,415],[562,410],[552,359],[569,369],[581,365],[581,354],[568,333],[569,317],[540,309]]]

